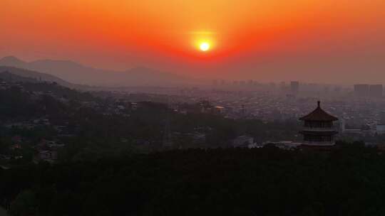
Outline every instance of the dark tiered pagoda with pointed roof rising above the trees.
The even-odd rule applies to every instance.
[[[334,135],[338,134],[334,129],[333,122],[337,117],[321,109],[320,102],[313,112],[300,118],[304,121],[304,127],[299,133],[304,136],[304,146],[334,146]]]

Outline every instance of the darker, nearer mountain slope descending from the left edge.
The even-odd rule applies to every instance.
[[[53,75],[8,66],[0,66],[0,79],[7,82],[38,82],[41,80],[46,82],[56,82],[59,85],[66,87],[80,88],[79,85],[73,85],[72,83],[61,80]]]

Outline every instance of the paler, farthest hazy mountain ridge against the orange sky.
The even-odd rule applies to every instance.
[[[14,56],[7,56],[0,59],[0,65],[36,70],[81,85],[170,86],[191,82],[187,77],[150,68],[133,68],[126,71],[101,70],[68,60],[36,60],[28,63]]]

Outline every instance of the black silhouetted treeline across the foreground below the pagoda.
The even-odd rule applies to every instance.
[[[0,173],[11,215],[384,215],[385,157],[215,148],[40,163]]]

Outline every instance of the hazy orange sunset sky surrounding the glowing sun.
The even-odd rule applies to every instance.
[[[385,84],[384,0],[1,0],[0,29],[0,57]]]

